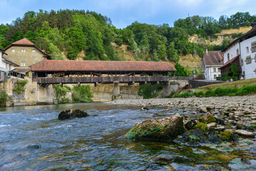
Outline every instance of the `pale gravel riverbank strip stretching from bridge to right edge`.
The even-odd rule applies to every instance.
[[[175,108],[193,108],[213,106],[215,108],[256,108],[256,95],[222,96],[208,98],[151,98],[133,100],[115,100],[108,105],[166,106]]]

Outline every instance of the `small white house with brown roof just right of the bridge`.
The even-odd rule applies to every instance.
[[[220,76],[220,66],[223,65],[223,54],[221,51],[207,51],[202,59],[202,72],[205,80],[215,81]]]

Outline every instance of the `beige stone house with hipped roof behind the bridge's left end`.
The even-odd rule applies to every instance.
[[[45,51],[26,38],[11,43],[4,48],[4,51],[8,54],[8,56],[5,56],[7,60],[19,64],[17,68],[29,68],[34,63],[51,59]]]

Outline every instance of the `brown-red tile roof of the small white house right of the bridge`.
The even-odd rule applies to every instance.
[[[208,51],[203,56],[205,66],[223,65],[224,56],[221,51]]]

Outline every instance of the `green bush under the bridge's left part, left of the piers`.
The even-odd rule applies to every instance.
[[[91,87],[86,86],[74,86],[72,89],[72,100],[73,103],[84,103],[90,102],[93,95],[91,94]]]

